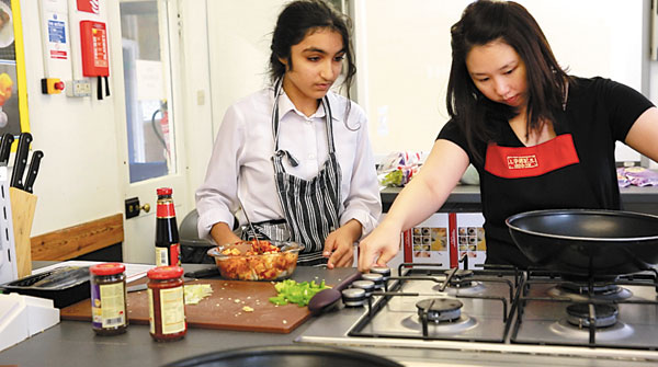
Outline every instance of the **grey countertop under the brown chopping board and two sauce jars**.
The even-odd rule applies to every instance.
[[[186,271],[207,266],[183,265]],[[328,284],[336,284],[352,272],[353,268],[329,271],[297,267],[293,278],[305,282],[318,276]],[[189,329],[181,341],[156,343],[148,333],[148,325],[131,324],[125,334],[101,337],[94,335],[91,322],[63,320],[59,324],[0,352],[0,366],[161,366],[215,351],[290,344],[311,321],[313,318],[290,334]]]

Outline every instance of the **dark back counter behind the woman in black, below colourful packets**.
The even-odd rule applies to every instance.
[[[381,192],[384,213],[388,211],[401,187],[386,187]],[[628,186],[620,188],[625,210],[658,215],[658,186]],[[457,185],[438,211],[481,211],[478,185]]]

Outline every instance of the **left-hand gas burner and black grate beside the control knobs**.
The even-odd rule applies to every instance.
[[[373,293],[364,317],[348,335],[504,343],[521,273],[409,265],[401,276],[390,277],[386,291]],[[474,287],[454,286],[473,282],[481,294],[470,294]]]

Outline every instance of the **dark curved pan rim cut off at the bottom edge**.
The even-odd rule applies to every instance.
[[[309,345],[245,347],[182,359],[166,367],[402,367],[390,359],[345,348]]]

